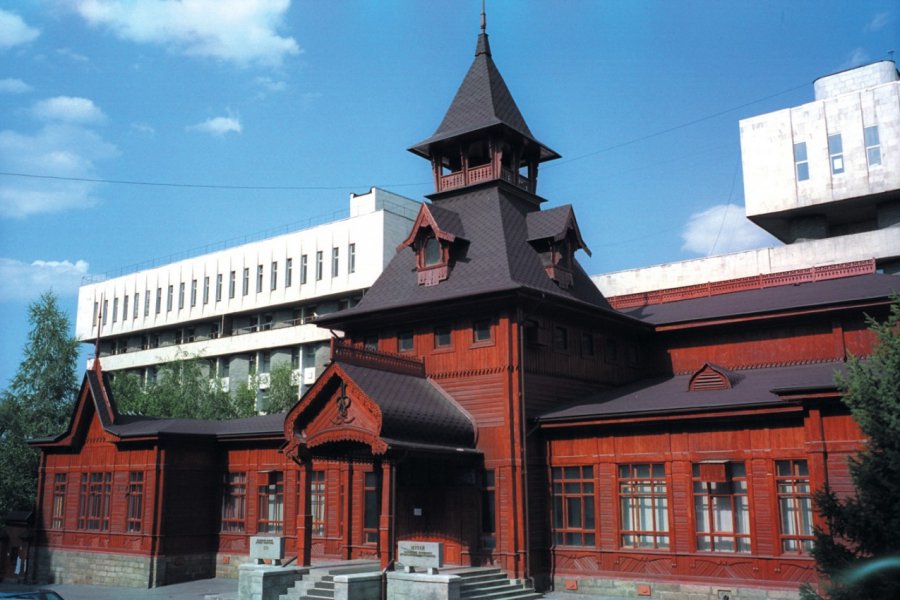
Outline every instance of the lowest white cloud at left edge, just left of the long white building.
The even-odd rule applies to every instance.
[[[0,301],[33,300],[52,289],[60,296],[78,293],[90,265],[83,260],[36,260],[31,263],[0,258]]]

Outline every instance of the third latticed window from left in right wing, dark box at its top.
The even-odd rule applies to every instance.
[[[697,550],[750,552],[747,472],[742,462],[693,466]]]

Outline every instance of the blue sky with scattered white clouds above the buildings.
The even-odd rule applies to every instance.
[[[495,62],[563,156],[539,192],[574,205],[592,274],[772,244],[742,218],[738,120],[900,50],[890,0],[487,5]],[[374,185],[422,199],[430,168],[406,148],[437,128],[480,11],[0,4],[0,387],[46,289],[74,320],[84,277],[337,218]]]

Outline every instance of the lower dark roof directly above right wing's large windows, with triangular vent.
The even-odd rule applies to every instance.
[[[645,379],[545,413],[539,420],[548,423],[771,405],[779,402],[773,390],[786,393],[834,389],[834,374],[838,371],[844,372],[844,363],[749,369],[736,372],[740,379],[731,389],[694,392],[688,390],[691,375]]]

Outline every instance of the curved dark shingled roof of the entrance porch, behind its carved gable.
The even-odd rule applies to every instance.
[[[383,439],[429,446],[475,446],[475,424],[434,381],[351,363],[337,364],[378,405]]]

